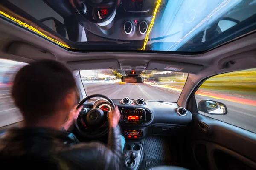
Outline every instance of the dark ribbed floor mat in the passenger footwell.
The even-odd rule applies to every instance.
[[[144,154],[146,169],[160,165],[176,165],[172,161],[166,140],[161,137],[150,136],[146,138],[144,142]]]

